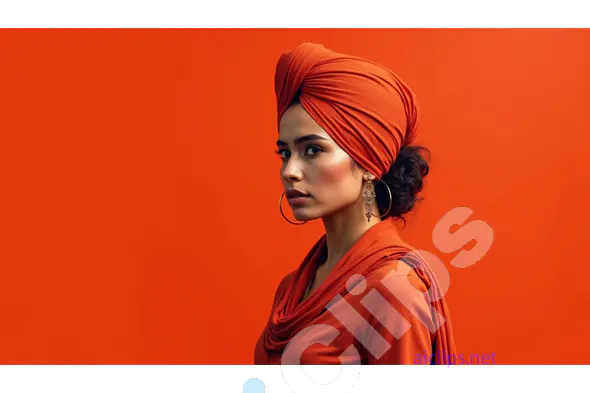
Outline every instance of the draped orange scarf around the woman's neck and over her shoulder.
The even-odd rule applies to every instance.
[[[346,281],[353,274],[370,277],[372,272],[386,264],[401,260],[414,269],[429,290],[424,296],[436,310],[432,313],[432,318],[435,326],[439,326],[434,333],[432,347],[432,353],[435,354],[434,363],[448,364],[448,356],[436,356],[456,353],[447,303],[432,269],[416,254],[408,254],[412,248],[400,240],[392,218],[387,218],[366,231],[338,262],[326,280],[300,302],[325,248],[324,234],[311,248],[291,279],[286,282],[286,286],[277,292],[274,309],[261,336],[267,352],[281,353],[299,331],[313,324],[313,321],[323,313],[329,312],[326,306],[337,295],[346,294]],[[439,300],[432,301],[432,298]],[[316,359],[316,362],[323,363],[322,359]]]

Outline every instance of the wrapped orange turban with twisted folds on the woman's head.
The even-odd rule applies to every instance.
[[[319,44],[302,43],[281,55],[275,94],[277,122],[299,98],[332,139],[377,177],[416,137],[416,97],[400,78],[379,64]]]

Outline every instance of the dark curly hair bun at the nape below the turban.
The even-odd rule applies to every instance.
[[[422,152],[427,153],[430,159],[430,150],[424,146],[402,146],[391,168],[381,178],[389,186],[393,198],[387,217],[401,219],[404,227],[406,220],[402,216],[423,199],[418,196],[418,193],[422,191],[429,166]],[[384,214],[389,207],[389,193],[380,181],[375,182],[375,194],[377,194],[379,214]]]

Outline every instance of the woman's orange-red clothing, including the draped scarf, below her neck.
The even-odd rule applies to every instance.
[[[448,307],[432,270],[391,218],[371,227],[301,301],[325,235],[279,284],[255,364],[448,364]],[[401,262],[400,262],[401,260]]]

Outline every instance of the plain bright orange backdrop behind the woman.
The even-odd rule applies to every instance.
[[[493,228],[449,266],[459,351],[589,362],[590,31],[114,29],[0,31],[1,363],[252,363],[323,230],[277,206],[274,66],[301,41],[418,95],[407,241],[449,266],[446,212]]]

